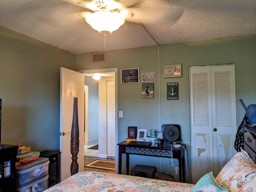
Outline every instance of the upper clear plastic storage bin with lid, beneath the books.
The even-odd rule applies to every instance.
[[[48,175],[49,162],[48,158],[39,157],[38,160],[17,166],[17,186]]]

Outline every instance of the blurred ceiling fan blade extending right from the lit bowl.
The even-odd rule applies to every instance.
[[[141,8],[129,8],[131,17],[127,19],[129,22],[141,23],[141,24],[174,24],[180,19],[184,10],[149,10]]]

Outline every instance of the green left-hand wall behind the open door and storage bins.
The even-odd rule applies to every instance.
[[[60,67],[75,55],[0,26],[1,143],[59,150]]]

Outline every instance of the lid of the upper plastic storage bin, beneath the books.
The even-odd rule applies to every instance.
[[[20,166],[16,166],[16,173],[23,174],[26,172],[30,172],[38,167],[45,166],[49,164],[49,158],[46,157],[39,157],[37,160],[22,164]]]

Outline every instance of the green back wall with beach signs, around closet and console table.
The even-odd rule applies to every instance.
[[[235,64],[237,125],[245,114],[239,99],[246,106],[256,104],[256,35],[168,44],[159,48],[150,46],[114,50],[107,51],[105,56],[105,62],[92,63],[92,53],[76,55],[76,70],[118,68],[118,110],[122,110],[124,116],[118,118],[118,142],[127,137],[128,126],[150,131],[160,130],[162,124],[179,124],[182,140],[186,144],[188,182],[191,175],[189,66]],[[182,64],[182,77],[163,77],[164,65],[171,64]],[[135,67],[140,68],[140,73],[156,72],[154,98],[141,98],[142,83],[120,84],[120,69]],[[179,100],[166,99],[168,82],[179,83]],[[175,174],[167,158],[132,156],[130,168],[140,163],[154,165],[157,171]]]

